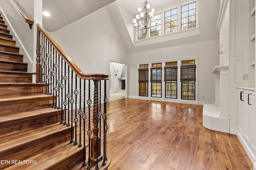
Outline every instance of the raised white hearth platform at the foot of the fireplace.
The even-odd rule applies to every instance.
[[[229,119],[222,118],[219,115],[219,106],[204,104],[203,126],[214,131],[229,133]]]

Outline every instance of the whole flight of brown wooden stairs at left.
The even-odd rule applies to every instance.
[[[70,144],[44,83],[32,83],[28,63],[0,16],[0,169],[72,169],[83,150]]]

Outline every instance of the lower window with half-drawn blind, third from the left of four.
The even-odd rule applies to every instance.
[[[176,63],[177,62],[172,62]],[[164,81],[165,81],[165,98],[177,98],[177,76],[178,76],[178,66],[168,66],[172,65],[166,63],[164,67]]]

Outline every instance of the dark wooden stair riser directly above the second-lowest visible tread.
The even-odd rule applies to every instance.
[[[30,117],[18,119],[15,121],[8,121],[0,123],[1,131],[0,135],[11,133],[13,131],[21,131],[24,129],[36,129],[58,123],[61,120],[61,111],[53,109],[50,113],[44,113],[40,115],[33,115]]]

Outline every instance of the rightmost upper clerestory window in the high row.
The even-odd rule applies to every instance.
[[[181,7],[181,30],[196,27],[196,2]]]

